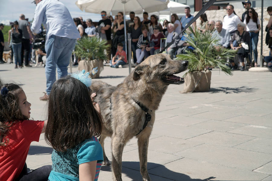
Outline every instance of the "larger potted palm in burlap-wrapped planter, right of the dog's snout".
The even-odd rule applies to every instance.
[[[219,67],[226,74],[232,75],[232,70],[225,63],[228,58],[235,56],[236,50],[216,49],[214,45],[219,40],[212,37],[209,32],[201,33],[192,27],[189,27],[184,36],[193,50],[186,49],[185,54],[176,56],[177,60],[189,62],[188,72],[184,75],[182,93],[209,91],[212,72],[207,67]]]

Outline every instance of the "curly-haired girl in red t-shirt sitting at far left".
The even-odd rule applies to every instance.
[[[16,84],[0,87],[0,180],[47,181],[51,165],[28,173],[25,164],[32,141],[39,141],[47,121],[30,120],[31,103]]]

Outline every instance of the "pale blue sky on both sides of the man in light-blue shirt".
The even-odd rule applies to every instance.
[[[82,16],[84,21],[88,18],[91,18],[92,21],[99,21],[102,19],[100,14],[81,11],[75,4],[76,0],[59,1],[68,8],[72,17]],[[36,7],[36,5],[31,2],[32,0],[0,0],[0,23],[9,25],[10,21],[13,22],[18,20],[20,14],[24,14],[25,17],[31,21],[34,17]]]

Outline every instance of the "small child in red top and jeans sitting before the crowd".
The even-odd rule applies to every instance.
[[[127,64],[126,52],[123,50],[123,43],[117,44],[117,51],[114,57],[112,57],[111,67],[118,68],[119,65]]]

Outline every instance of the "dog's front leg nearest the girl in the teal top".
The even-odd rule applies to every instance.
[[[122,175],[122,154],[124,143],[117,135],[112,135],[112,171],[113,180],[121,181]]]

